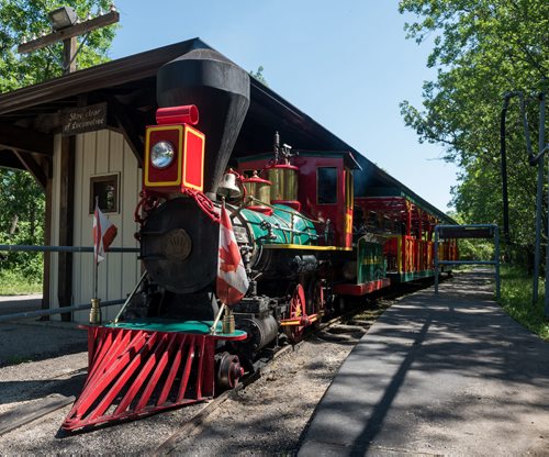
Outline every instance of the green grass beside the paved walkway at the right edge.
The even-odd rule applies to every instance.
[[[531,305],[531,277],[516,267],[502,267],[503,310],[515,321],[534,332],[545,341],[549,341],[549,317],[544,315],[545,281],[539,281],[539,298]]]

